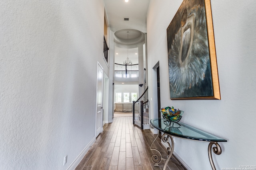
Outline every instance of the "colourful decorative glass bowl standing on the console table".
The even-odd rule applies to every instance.
[[[182,114],[184,113],[184,111],[174,109],[174,107],[163,107],[160,109],[160,112],[162,113],[164,119],[171,122],[180,121]]]

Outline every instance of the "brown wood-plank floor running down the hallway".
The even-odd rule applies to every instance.
[[[151,160],[150,145],[156,135],[150,130],[141,130],[132,125],[132,117],[114,117],[113,123],[105,124],[103,132],[97,137],[93,147],[88,150],[75,170],[162,170]],[[154,147],[161,150],[166,158],[167,151],[160,139]],[[171,158],[178,162],[174,156]],[[181,170],[168,162],[166,170]]]

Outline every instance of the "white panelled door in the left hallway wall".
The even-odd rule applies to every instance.
[[[98,63],[97,72],[97,108],[96,108],[96,137],[102,131],[102,102],[103,101],[103,68]]]

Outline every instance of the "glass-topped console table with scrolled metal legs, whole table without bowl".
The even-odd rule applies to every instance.
[[[212,169],[216,170],[214,166],[214,162],[212,160],[212,150],[215,154],[218,154],[218,155],[221,154],[221,148],[218,142],[226,142],[227,141],[226,139],[222,139],[210,133],[204,132],[200,129],[196,129],[192,126],[186,125],[185,123],[181,123],[181,122],[170,123],[170,121],[166,121],[165,119],[162,119],[162,118],[151,119],[150,123],[151,123],[150,125],[151,128],[158,129],[158,134],[150,146],[150,150],[157,151],[157,153],[160,156],[159,157],[158,154],[153,154],[151,156],[151,160],[154,162],[154,166],[159,166],[159,163],[164,159],[166,160],[164,164],[164,170],[166,169],[167,163],[170,160],[172,153],[174,151],[174,141],[172,139],[172,136],[174,136],[174,137],[193,140],[193,141],[210,142],[208,145],[208,156],[209,156]],[[167,158],[163,158],[159,150],[152,148],[152,145],[156,141],[160,132],[163,132],[163,135],[161,137],[162,141],[169,145],[169,147],[167,148],[167,152],[168,152]],[[169,139],[171,140],[171,145],[169,143]],[[212,147],[212,145],[215,145],[215,147]],[[174,163],[176,164],[176,162]],[[180,166],[179,164],[177,165]]]

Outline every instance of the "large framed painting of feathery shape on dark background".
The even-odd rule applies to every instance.
[[[184,0],[167,28],[171,100],[220,100],[210,0]]]

